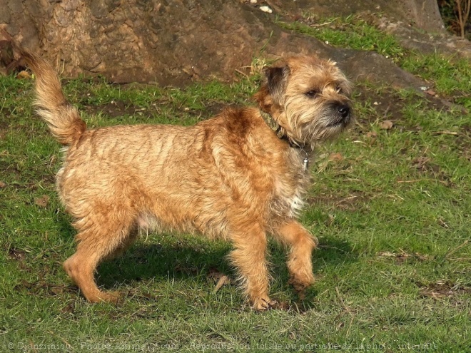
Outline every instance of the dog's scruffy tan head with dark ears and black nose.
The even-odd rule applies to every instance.
[[[295,143],[313,147],[338,135],[353,120],[350,82],[333,61],[288,58],[266,68],[265,76],[255,100]]]

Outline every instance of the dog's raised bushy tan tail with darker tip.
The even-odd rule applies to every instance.
[[[36,76],[36,112],[46,121],[52,135],[63,145],[71,145],[86,130],[77,109],[62,93],[61,81],[52,66],[34,53],[21,49],[26,66]]]

